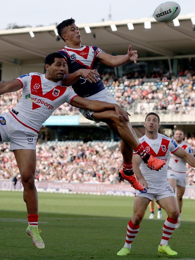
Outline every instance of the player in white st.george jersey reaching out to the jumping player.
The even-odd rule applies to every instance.
[[[113,109],[119,117],[129,120],[128,114],[119,105],[87,100],[62,86],[66,66],[63,55],[51,53],[46,57],[45,64],[46,74],[33,72],[13,81],[0,83],[0,95],[22,88],[22,97],[16,107],[10,113],[4,112],[0,116],[0,143],[10,142],[10,150],[16,158],[28,212],[29,225],[26,233],[32,237],[34,246],[38,249],[44,249],[44,242],[38,229],[38,196],[34,174],[37,132],[42,123],[64,102],[97,112]]]

